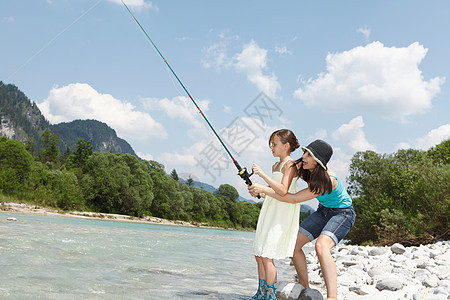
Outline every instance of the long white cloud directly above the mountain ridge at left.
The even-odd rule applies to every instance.
[[[164,127],[149,114],[136,111],[129,102],[101,94],[86,83],[55,87],[38,106],[53,124],[95,119],[114,128],[121,137],[167,137]]]

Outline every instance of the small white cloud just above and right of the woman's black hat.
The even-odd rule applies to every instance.
[[[350,152],[373,150],[376,151],[375,145],[370,144],[363,131],[364,121],[362,116],[352,119],[348,124],[343,124],[335,132],[332,137],[339,141],[341,145],[346,145]]]

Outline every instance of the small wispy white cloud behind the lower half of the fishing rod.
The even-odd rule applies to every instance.
[[[145,98],[141,100],[147,110],[161,109],[171,119],[178,119],[196,128],[204,126],[201,115],[192,101],[185,96],[177,96],[169,100]],[[196,100],[197,105],[203,113],[208,111],[209,100]]]

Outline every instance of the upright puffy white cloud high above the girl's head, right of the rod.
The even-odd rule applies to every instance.
[[[273,98],[281,88],[275,74],[263,74],[263,70],[267,68],[267,50],[259,47],[255,41],[252,40],[245,45],[242,52],[236,54],[233,60],[236,70],[246,73],[247,79],[256,84],[268,97]]]

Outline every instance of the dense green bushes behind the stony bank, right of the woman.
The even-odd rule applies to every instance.
[[[356,244],[419,245],[450,238],[450,139],[429,149],[356,153],[348,177]]]

